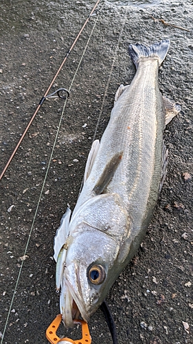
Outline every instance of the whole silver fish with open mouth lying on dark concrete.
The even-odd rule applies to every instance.
[[[136,73],[120,85],[101,140],[95,140],[73,213],[54,238],[56,289],[66,327],[89,321],[144,239],[166,177],[163,131],[180,105],[159,91],[170,41],[129,45]]]

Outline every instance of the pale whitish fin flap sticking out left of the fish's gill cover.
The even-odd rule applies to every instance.
[[[66,213],[60,221],[60,227],[56,230],[54,237],[54,259],[57,261],[59,252],[67,240],[69,234],[69,218],[71,215],[70,208],[67,208]]]

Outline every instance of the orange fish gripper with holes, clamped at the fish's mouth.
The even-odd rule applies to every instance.
[[[89,333],[89,326],[86,321],[74,319],[73,323],[80,324],[82,326],[82,338],[73,341],[70,338],[59,338],[56,334],[58,327],[62,321],[62,314],[58,314],[56,318],[52,321],[52,323],[47,327],[45,332],[45,336],[49,343],[51,344],[91,344],[91,335]]]

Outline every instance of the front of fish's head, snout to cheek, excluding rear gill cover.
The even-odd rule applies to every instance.
[[[79,314],[89,321],[117,277],[115,240],[87,224],[82,226],[84,231],[67,248],[61,284],[60,312],[67,327]]]

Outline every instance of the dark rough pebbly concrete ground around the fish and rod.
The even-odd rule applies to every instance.
[[[1,1],[1,169],[93,5]],[[69,89],[95,24],[41,197],[63,100],[45,101],[0,182],[1,344],[47,343],[45,330],[59,313],[56,228],[67,204],[76,204],[91,142],[102,136],[117,87],[135,75],[128,44],[164,38],[171,45],[159,85],[182,111],[166,129],[168,175],[146,238],[107,301],[120,344],[193,343],[192,1],[101,1],[98,8],[100,16],[91,18],[52,88]],[[100,311],[89,329],[94,344],[111,343]],[[60,327],[59,334],[76,339],[77,331]]]

